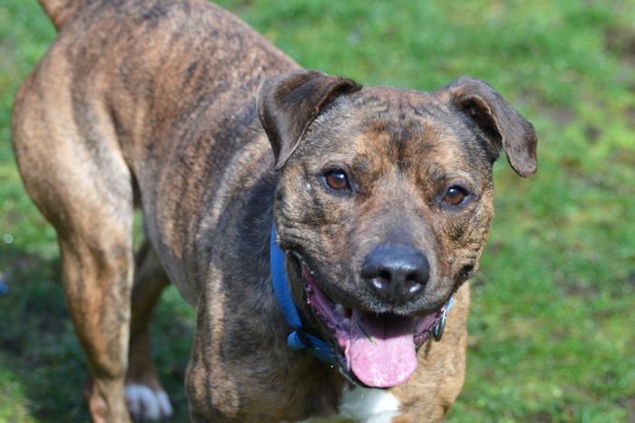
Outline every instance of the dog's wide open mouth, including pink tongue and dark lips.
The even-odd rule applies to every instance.
[[[416,370],[417,349],[434,331],[442,311],[401,316],[347,307],[329,298],[307,265],[300,264],[307,302],[342,351],[343,370],[368,387],[405,383]]]

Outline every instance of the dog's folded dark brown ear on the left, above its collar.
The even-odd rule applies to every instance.
[[[276,170],[284,166],[329,101],[361,88],[357,82],[317,71],[290,72],[262,82],[258,114],[271,142]]]

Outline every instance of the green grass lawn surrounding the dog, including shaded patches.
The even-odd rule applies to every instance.
[[[493,84],[535,124],[539,171],[496,166],[496,217],[473,290],[450,421],[635,419],[635,2],[223,0],[309,68],[366,85]],[[0,4],[0,421],[85,421],[83,355],[54,231],[10,145],[18,84],[54,38],[34,0]],[[191,312],[172,289],[155,353],[186,420]]]

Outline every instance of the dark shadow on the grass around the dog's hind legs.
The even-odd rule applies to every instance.
[[[59,259],[0,245],[0,271],[9,287],[0,296],[0,420],[90,421],[82,394],[87,370],[64,303]],[[183,374],[191,317],[171,287],[152,322],[152,352],[174,421],[188,420]]]

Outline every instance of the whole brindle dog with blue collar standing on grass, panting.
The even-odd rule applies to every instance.
[[[171,415],[148,331],[170,283],[197,313],[191,421],[443,419],[493,162],[532,176],[532,124],[469,77],[304,70],[200,0],[41,3],[59,34],[16,95],[15,157],[57,232],[94,421]]]

